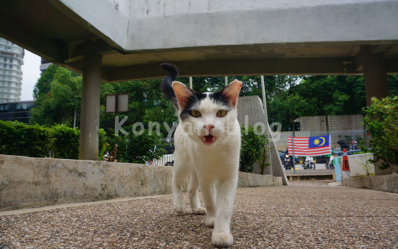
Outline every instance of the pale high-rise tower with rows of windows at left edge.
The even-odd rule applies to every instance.
[[[0,37],[0,102],[20,100],[24,54],[22,47]]]

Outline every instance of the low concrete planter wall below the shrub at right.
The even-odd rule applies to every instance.
[[[398,174],[342,178],[342,186],[398,193]]]

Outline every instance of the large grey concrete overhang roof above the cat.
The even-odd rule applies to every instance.
[[[361,75],[361,46],[398,74],[398,0],[12,0],[0,36],[82,73],[84,42],[105,82],[181,76]]]

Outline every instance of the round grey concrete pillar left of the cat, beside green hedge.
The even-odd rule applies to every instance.
[[[87,40],[83,59],[82,110],[80,116],[80,160],[98,160],[102,55],[94,53]]]

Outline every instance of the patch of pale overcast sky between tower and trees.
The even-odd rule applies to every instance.
[[[38,55],[25,49],[22,69],[21,100],[33,100],[33,88],[40,78],[40,62]]]

